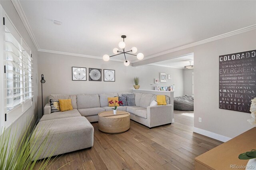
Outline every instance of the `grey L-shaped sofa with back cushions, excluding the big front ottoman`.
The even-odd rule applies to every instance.
[[[40,121],[83,116],[86,117],[89,122],[97,122],[98,113],[103,111],[111,111],[112,108],[114,108],[108,107],[108,97],[122,96],[122,94],[124,93],[78,95],[52,94],[48,98],[49,103],[44,107],[44,116]],[[150,106],[150,103],[153,100],[156,101],[156,95],[147,93],[134,94],[135,106],[119,106],[118,110],[129,112],[130,119],[149,128],[172,123],[172,105]],[[51,113],[50,99],[71,99],[73,110]],[[166,103],[169,102],[169,98],[166,97]]]

